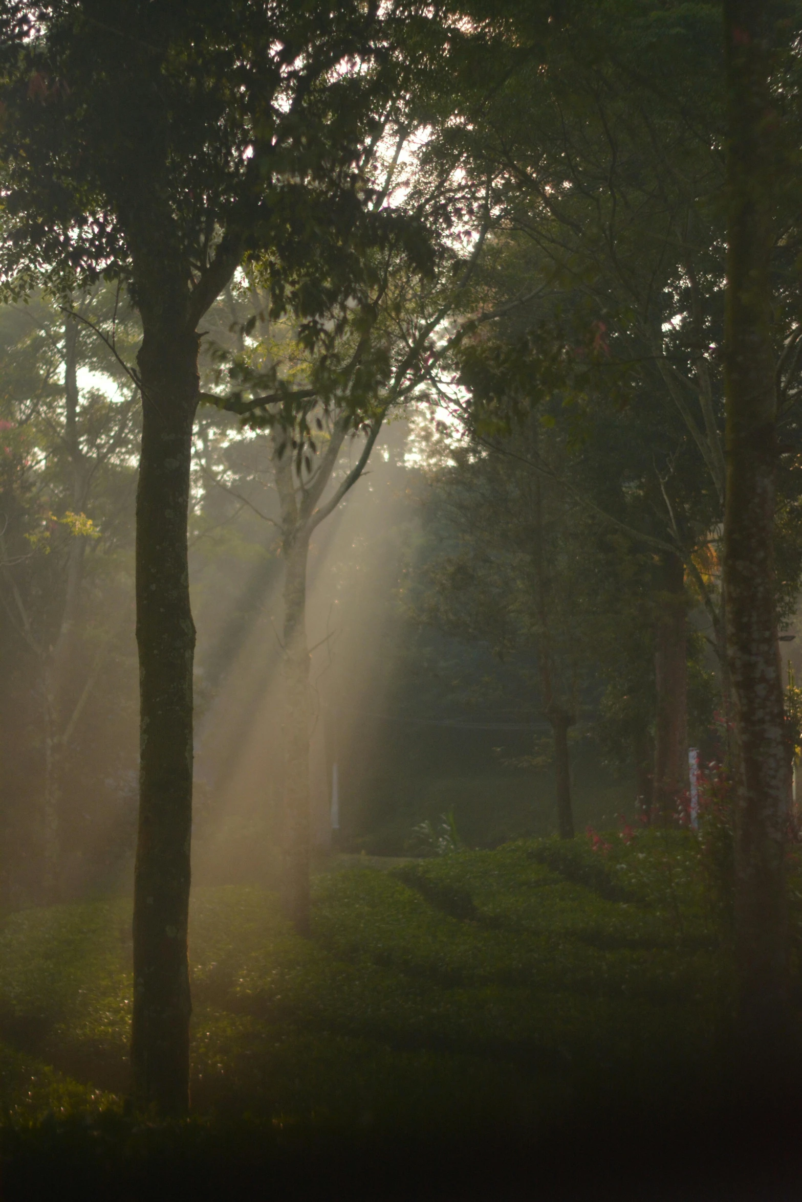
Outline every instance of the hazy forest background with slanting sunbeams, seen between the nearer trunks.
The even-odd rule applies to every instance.
[[[88,298],[87,313],[113,300],[101,290]],[[225,319],[224,310],[218,320]],[[126,321],[133,346],[136,322]],[[65,320],[53,303],[35,298],[5,310],[4,355],[1,846],[4,897],[19,905],[42,895],[48,797],[58,809],[59,895],[130,882],[138,426],[119,363],[95,331]],[[355,447],[360,441],[350,440],[344,466]],[[207,406],[192,471],[196,880],[274,883],[283,564],[269,435],[243,432],[236,418]],[[483,494],[470,478],[481,472],[493,477]],[[368,474],[320,528],[310,548],[308,629],[314,843],[321,853],[416,852],[415,828],[436,826],[450,811],[461,839],[476,847],[557,829],[536,638],[512,630],[516,615],[488,593],[487,577],[476,579],[487,571],[482,523],[498,538],[500,494],[537,478],[525,464],[471,451],[464,427],[420,401],[385,428]],[[630,543],[622,549],[587,511],[575,507],[568,522],[558,537],[572,559],[575,591],[563,620],[575,665],[571,784],[583,829],[637,815],[632,720],[634,709],[655,706],[660,591],[647,552],[638,569],[646,575],[628,581],[629,595],[616,593]],[[511,554],[521,554],[515,538],[512,552],[501,543],[492,572],[519,573]],[[786,591],[794,596],[791,584]],[[632,607],[640,608],[640,629],[630,623],[623,647],[619,624]],[[693,593],[687,612],[688,739],[707,762],[721,750],[718,664],[711,623]],[[784,655],[796,667],[788,606],[785,633]],[[622,670],[626,657],[640,674],[635,682]],[[648,709],[643,725],[653,739]],[[332,831],[334,764],[339,813]]]

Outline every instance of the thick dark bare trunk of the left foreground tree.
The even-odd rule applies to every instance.
[[[186,928],[192,810],[192,657],[186,520],[198,339],[145,325],[136,514],[139,827],[133,885],[133,1099],[189,1106]]]

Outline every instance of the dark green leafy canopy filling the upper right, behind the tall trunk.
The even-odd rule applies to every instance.
[[[535,5],[511,5],[504,16],[479,7],[500,43],[492,95],[481,85],[456,91],[458,115],[429,153],[459,161],[477,185],[491,173],[497,226],[482,282],[493,304],[521,303],[492,337],[461,347],[457,369],[470,395],[455,395],[452,409],[493,445],[533,410],[556,424],[570,466],[543,453],[541,470],[610,531],[626,531],[634,552],[675,548],[721,655],[718,569],[696,563],[719,549],[725,476],[718,8],[590,5],[581,16],[549,16],[545,32]],[[794,20],[788,16],[788,28]],[[774,240],[772,334],[783,430],[774,584],[785,615],[801,547],[796,251],[784,246],[798,239],[796,53],[778,53],[774,70],[789,156],[777,191],[785,232]],[[649,657],[636,673],[626,659],[623,650],[612,668],[611,743],[626,727],[631,739],[649,692]]]

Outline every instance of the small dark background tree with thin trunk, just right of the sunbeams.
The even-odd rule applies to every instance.
[[[552,432],[533,415],[513,440],[525,453]],[[583,523],[565,492],[481,444],[455,450],[430,480],[433,551],[417,569],[414,611],[501,657],[534,654],[537,708],[553,734],[560,838],[574,838],[569,732],[589,683],[582,624]],[[531,685],[530,685],[531,688]]]

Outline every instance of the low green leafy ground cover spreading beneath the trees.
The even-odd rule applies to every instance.
[[[602,1178],[624,1196],[630,1170],[632,1179],[655,1171],[655,1149],[665,1185],[725,1125],[735,1139],[741,1121],[723,1111],[732,972],[721,922],[689,832],[608,835],[595,851],[586,838],[528,840],[322,873],[309,940],[287,929],[269,893],[198,889],[194,1118],[160,1125],[129,1118],[123,1102],[130,900],[7,915],[6,1188],[24,1180],[36,1196],[29,1178],[46,1161],[118,1185],[125,1164],[125,1189],[111,1196],[126,1198],[141,1196],[136,1182],[152,1191],[142,1183],[154,1164],[162,1182],[167,1161],[184,1176],[191,1164],[208,1185],[218,1161],[248,1162],[256,1176],[269,1162],[269,1196],[302,1196],[295,1174],[317,1165],[325,1196],[339,1197],[329,1172],[339,1156],[343,1196],[457,1198],[474,1196],[473,1182],[489,1197],[480,1161],[512,1188],[513,1170],[534,1156],[537,1196],[584,1197],[570,1192],[583,1173],[596,1180],[593,1196]],[[774,1164],[785,1153],[766,1155]],[[416,1158],[439,1162],[439,1176],[424,1177],[430,1194],[404,1192]],[[713,1162],[726,1162],[715,1170],[726,1177],[732,1141]],[[788,1158],[782,1167],[796,1172]],[[209,1186],[208,1196],[225,1194]]]

